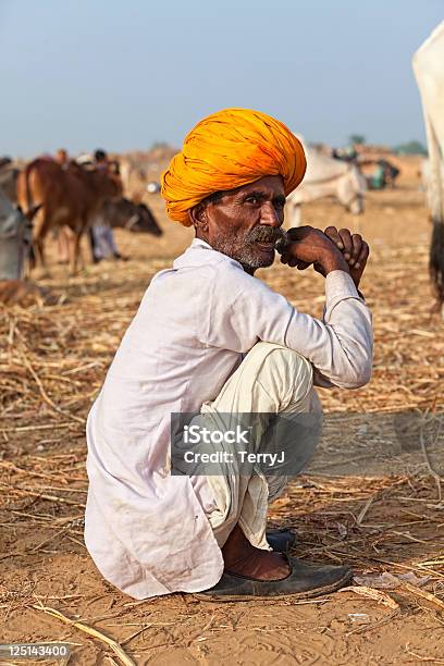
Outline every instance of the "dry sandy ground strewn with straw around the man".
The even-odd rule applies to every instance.
[[[312,602],[217,604],[185,594],[135,602],[98,574],[83,542],[85,418],[150,279],[192,237],[166,221],[158,196],[150,201],[161,239],[122,232],[131,261],[73,279],[53,263],[42,284],[54,304],[1,311],[0,642],[65,641],[82,666],[125,663],[85,627],[137,665],[444,664],[444,338],[430,312],[430,230],[415,181],[370,193],[359,220],[330,202],[305,211],[308,223],[359,229],[371,243],[362,291],[374,374],[358,391],[321,392],[318,455],[271,522],[296,530],[295,555],[350,562],[367,578]],[[322,279],[311,270],[276,262],[261,278],[320,314]]]

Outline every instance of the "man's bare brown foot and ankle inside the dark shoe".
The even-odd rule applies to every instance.
[[[257,580],[282,580],[289,566],[281,553],[255,548],[236,525],[222,547],[225,570]]]

